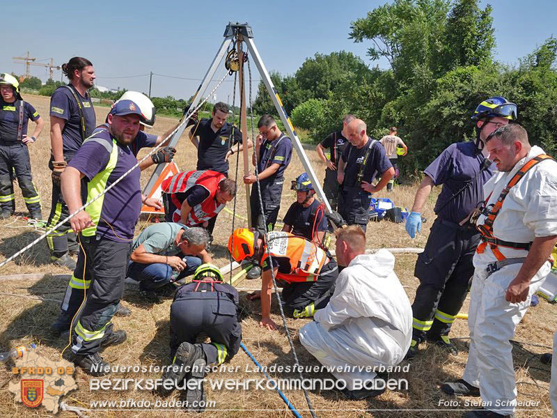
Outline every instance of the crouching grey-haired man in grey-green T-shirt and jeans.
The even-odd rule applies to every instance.
[[[174,222],[148,226],[134,240],[127,277],[139,281],[143,296],[157,299],[157,289],[194,274],[201,263],[212,262],[205,251],[208,242],[203,228]]]

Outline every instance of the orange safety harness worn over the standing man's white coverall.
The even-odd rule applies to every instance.
[[[526,162],[526,164],[524,164],[524,166],[521,167],[519,171],[517,171],[515,176],[513,176],[510,179],[509,183],[503,189],[503,191],[499,195],[499,198],[497,199],[496,203],[493,205],[491,210],[489,210],[489,206],[488,206],[487,208],[484,208],[483,211],[481,211],[485,216],[487,216],[487,218],[485,219],[485,222],[482,225],[476,226],[478,231],[480,231],[481,240],[483,241],[480,243],[480,245],[478,245],[478,248],[476,249],[476,252],[478,254],[483,254],[485,248],[487,247],[487,245],[489,245],[489,248],[491,248],[497,260],[503,261],[506,259],[506,257],[503,256],[503,253],[499,251],[498,247],[526,249],[526,251],[530,249],[530,247],[532,246],[532,242],[510,242],[510,241],[504,241],[504,240],[500,240],[499,238],[496,238],[495,235],[493,235],[493,224],[495,222],[495,218],[497,217],[499,211],[501,210],[501,207],[503,206],[505,197],[507,197],[507,195],[510,192],[510,188],[515,186],[520,181],[520,179],[524,177],[524,174],[526,174],[528,170],[540,164],[540,162],[544,160],[553,160],[553,158],[550,157],[549,155],[542,154],[533,157],[531,160]],[[485,202],[488,202],[491,196],[492,193],[490,193],[489,196],[487,196]]]

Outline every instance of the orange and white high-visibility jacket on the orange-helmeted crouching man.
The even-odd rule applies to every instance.
[[[288,283],[317,281],[321,269],[330,261],[325,251],[305,238],[288,232],[269,232],[267,236],[269,237],[267,247],[271,257],[288,258],[290,261],[290,272],[281,272],[279,266],[276,279]],[[267,249],[265,249],[261,263],[267,258]]]

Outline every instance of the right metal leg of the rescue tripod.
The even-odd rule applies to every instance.
[[[276,93],[276,89],[274,88],[273,82],[271,81],[271,77],[269,77],[269,73],[267,72],[267,69],[263,64],[263,61],[259,56],[259,52],[257,50],[256,44],[253,43],[253,38],[248,38],[244,36],[244,42],[246,42],[249,52],[251,53],[251,57],[253,61],[256,63],[256,66],[259,70],[261,79],[265,84],[265,87],[267,87],[267,91],[269,91],[269,95],[273,100],[274,107],[276,108],[276,111],[278,111],[278,115],[281,116],[281,121],[283,121],[286,132],[288,132],[288,136],[290,137],[290,139],[292,139],[292,144],[296,148],[298,157],[301,160],[301,164],[304,165],[304,169],[306,169],[306,173],[308,173],[309,178],[311,178],[311,184],[315,188],[315,192],[317,192],[317,196],[319,196],[321,201],[325,204],[325,207],[327,208],[327,212],[331,212],[331,205],[329,205],[329,201],[327,200],[327,197],[323,192],[321,183],[317,180],[317,177],[315,176],[315,172],[311,167],[308,157],[306,156],[306,153],[304,153],[304,148],[302,148],[301,146],[298,135],[294,130],[294,126],[292,125],[292,122],[290,122],[290,118],[288,117],[288,114],[284,109],[283,102],[281,102],[281,98],[279,98],[278,94]]]

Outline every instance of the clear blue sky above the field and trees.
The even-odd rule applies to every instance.
[[[308,56],[344,49],[370,65],[368,44],[348,39],[350,23],[365,17],[385,1],[16,1],[3,2],[2,15],[15,17],[13,29],[0,43],[0,72],[24,72],[12,56],[29,50],[37,59],[54,58],[61,64],[72,56],[93,62],[96,84],[109,88],[148,91],[150,71],[201,79],[223,40],[229,21],[248,22],[267,70],[293,74]],[[557,2],[540,0],[482,1],[492,3],[496,59],[516,63],[556,28]],[[10,22],[10,19],[4,20]],[[47,62],[42,61],[42,62]],[[255,70],[255,67],[252,67]],[[223,68],[217,70],[220,78]],[[61,72],[55,71],[55,79]],[[31,67],[31,75],[47,79],[46,68]],[[253,75],[259,79],[258,75]],[[199,81],[154,76],[152,95],[188,98]],[[257,84],[254,83],[253,88]],[[226,101],[232,83],[217,91]]]

